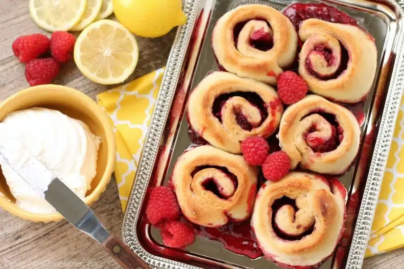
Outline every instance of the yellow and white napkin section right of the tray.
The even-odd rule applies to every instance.
[[[404,247],[404,96],[365,256],[400,247]]]

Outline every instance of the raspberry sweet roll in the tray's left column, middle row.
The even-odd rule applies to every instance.
[[[228,72],[214,72],[191,92],[188,122],[214,147],[241,153],[250,136],[267,138],[278,128],[283,105],[270,86]]]

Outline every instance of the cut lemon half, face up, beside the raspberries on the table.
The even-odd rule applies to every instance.
[[[100,20],[85,28],[74,45],[74,62],[99,84],[123,82],[135,70],[139,48],[135,37],[119,22]]]

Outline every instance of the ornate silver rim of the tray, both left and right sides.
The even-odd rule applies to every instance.
[[[186,24],[179,27],[177,35],[168,57],[162,85],[157,97],[156,105],[150,127],[146,135],[138,172],[122,225],[122,237],[135,253],[146,263],[156,269],[198,269],[198,267],[176,262],[170,259],[155,256],[147,252],[140,244],[136,224],[139,218],[143,197],[145,195],[152,169],[156,161],[166,119],[171,107],[182,64],[186,57],[192,30],[196,22],[199,3],[201,0],[186,0],[184,12],[188,17]],[[387,0],[396,7],[401,17],[404,18],[404,0]],[[359,269],[362,266],[369,232],[372,226],[376,205],[380,193],[381,179],[387,163],[388,152],[391,145],[395,122],[397,119],[400,101],[404,87],[404,31],[400,32],[397,39],[397,55],[394,63],[386,101],[383,108],[379,132],[373,152],[368,177],[357,216],[356,226],[348,254],[346,269]]]

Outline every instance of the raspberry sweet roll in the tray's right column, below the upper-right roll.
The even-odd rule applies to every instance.
[[[289,106],[282,117],[279,142],[300,166],[321,174],[338,175],[349,169],[359,150],[360,127],[345,107],[318,95]]]

